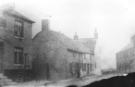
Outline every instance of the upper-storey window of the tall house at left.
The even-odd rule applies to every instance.
[[[15,24],[14,24],[14,35],[16,37],[24,37],[24,26],[23,26],[23,22],[19,21],[19,20],[15,20]]]

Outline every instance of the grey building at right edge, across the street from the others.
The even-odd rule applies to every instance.
[[[117,71],[119,73],[135,72],[135,35],[131,42],[116,54]]]

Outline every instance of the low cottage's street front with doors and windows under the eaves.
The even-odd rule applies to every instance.
[[[73,49],[68,49],[72,54],[74,60],[70,64],[71,73],[76,77],[84,77],[93,75],[94,71],[94,54],[89,51],[78,51]]]

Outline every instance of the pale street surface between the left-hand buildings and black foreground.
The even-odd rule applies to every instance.
[[[95,81],[100,81],[102,79],[108,79],[117,74],[109,74],[102,76],[87,76],[79,79],[67,79],[59,81],[31,81],[25,83],[18,83],[14,85],[7,85],[3,87],[66,87],[68,85],[77,85],[78,87],[90,84]]]

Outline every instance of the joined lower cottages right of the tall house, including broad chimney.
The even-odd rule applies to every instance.
[[[33,38],[35,79],[58,80],[94,74],[96,39],[75,38],[52,31],[49,21],[42,21],[42,30]]]

